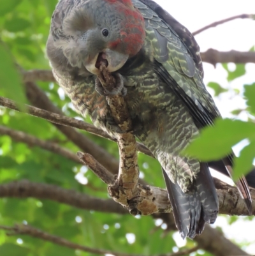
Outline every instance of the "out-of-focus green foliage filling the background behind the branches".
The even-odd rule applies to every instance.
[[[25,102],[24,91],[21,86],[20,75],[15,68],[15,62],[25,70],[50,68],[45,57],[45,43],[50,26],[50,16],[54,11],[55,4],[57,4],[57,0],[0,0],[1,96],[12,98],[20,103]],[[227,69],[227,66],[225,68]],[[235,79],[244,73],[244,67],[239,65],[235,72],[229,72],[228,80]],[[60,107],[66,115],[78,116],[71,108],[69,99],[62,98],[59,91],[61,89],[58,86],[46,82],[38,82],[38,84],[47,93],[50,100]],[[209,86],[215,90],[215,95],[226,91],[216,83],[211,83]],[[247,91],[245,96],[247,97],[247,104],[254,114],[254,102],[252,101],[254,84],[252,86],[245,87]],[[89,118],[86,118],[85,121],[90,122]],[[248,126],[253,125],[252,121],[247,123],[248,130]],[[225,122],[233,125],[231,130],[235,130],[235,123],[239,122],[240,124],[240,121],[227,120]],[[55,126],[43,119],[0,107],[0,124],[21,130],[43,140],[58,142],[73,152],[78,151],[77,146],[69,142]],[[242,122],[242,125],[246,124]],[[115,143],[89,133],[82,133],[116,158],[118,157]],[[223,134],[221,131],[217,134],[219,140]],[[235,135],[233,132],[233,136]],[[242,139],[245,136],[240,135],[238,138]],[[254,139],[254,137],[250,139]],[[228,142],[228,146],[233,146],[235,142],[237,139],[231,140]],[[226,153],[230,149],[224,150]],[[210,148],[210,153],[212,151],[214,149]],[[242,159],[242,157],[241,155],[240,158]],[[246,154],[245,157],[247,158]],[[249,154],[249,158],[252,157],[253,155]],[[159,164],[156,160],[139,154],[139,165],[145,181],[153,186],[164,187]],[[77,174],[87,179],[87,185],[78,182]],[[93,197],[108,198],[105,184],[91,171],[84,171],[82,165],[44,151],[39,147],[32,148],[26,144],[15,142],[8,136],[1,136],[0,181],[1,183],[8,183],[20,179],[55,184]],[[172,233],[163,238],[163,227],[156,229],[155,221],[149,216],[133,218],[130,215],[96,213],[50,200],[33,198],[4,198],[0,200],[0,209],[0,225],[29,223],[45,230],[45,232],[64,237],[80,245],[143,255],[170,253],[176,250]],[[135,243],[129,243],[126,237],[129,233],[135,234]],[[185,248],[192,246],[194,243],[189,240]],[[90,254],[62,248],[29,236],[6,236],[5,232],[0,230],[0,255],[3,256],[82,256]],[[203,255],[209,256],[210,254],[203,252]]]

